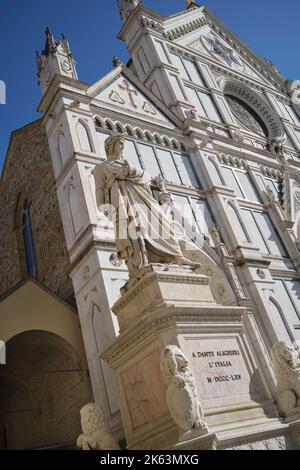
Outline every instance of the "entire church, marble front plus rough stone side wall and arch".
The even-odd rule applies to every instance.
[[[119,335],[112,306],[128,280],[93,176],[112,134],[125,136],[125,158],[151,175],[170,220],[202,235],[184,255],[209,277],[214,301],[253,315],[270,403],[271,348],[299,345],[300,115],[289,84],[195,2],[170,17],[139,0],[119,7],[118,37],[131,59],[114,58],[92,85],[78,78],[67,40],[46,30],[37,55],[42,117],[15,131],[8,149],[0,188],[3,448],[72,446],[88,401],[125,437],[116,380],[100,357]],[[32,361],[27,375],[18,341]],[[35,364],[34,347],[44,363]],[[29,423],[40,432],[24,440]]]

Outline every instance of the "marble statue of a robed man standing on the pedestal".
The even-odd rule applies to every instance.
[[[185,264],[170,223],[152,195],[149,174],[123,158],[124,144],[123,135],[108,137],[107,161],[94,170],[97,206],[114,222],[118,257],[130,275],[150,263]]]

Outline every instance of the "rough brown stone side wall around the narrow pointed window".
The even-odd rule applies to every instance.
[[[38,280],[75,304],[50,152],[40,120],[12,134],[0,183],[0,295],[28,276],[21,222],[25,198],[31,203]]]

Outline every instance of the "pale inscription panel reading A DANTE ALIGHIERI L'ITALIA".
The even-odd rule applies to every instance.
[[[186,342],[202,400],[249,395],[250,375],[236,338]]]

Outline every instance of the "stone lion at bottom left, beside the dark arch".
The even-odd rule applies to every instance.
[[[83,434],[77,439],[82,450],[120,450],[111,434],[103,410],[95,403],[88,403],[80,410]]]

